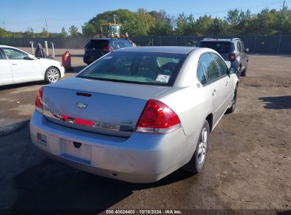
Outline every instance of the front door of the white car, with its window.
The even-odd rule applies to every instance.
[[[3,47],[2,50],[11,66],[13,83],[41,79],[40,62],[38,59],[30,59],[25,52],[11,47]]]

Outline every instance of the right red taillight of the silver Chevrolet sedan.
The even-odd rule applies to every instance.
[[[136,132],[164,134],[180,127],[181,122],[176,112],[164,103],[150,99],[139,117]]]

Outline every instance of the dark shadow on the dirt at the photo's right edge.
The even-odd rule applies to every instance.
[[[291,108],[291,95],[287,96],[275,96],[275,97],[261,97],[259,100],[263,100],[266,109],[290,109]]]

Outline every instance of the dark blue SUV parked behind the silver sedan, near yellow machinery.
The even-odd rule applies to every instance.
[[[84,47],[85,53],[83,61],[85,64],[91,64],[99,57],[108,52],[118,50],[124,47],[133,47],[134,45],[128,40],[122,38],[96,38],[91,39]]]

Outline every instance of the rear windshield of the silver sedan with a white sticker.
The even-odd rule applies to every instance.
[[[173,86],[187,54],[110,52],[76,77]]]

